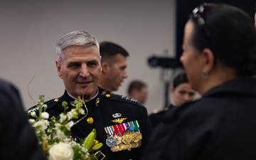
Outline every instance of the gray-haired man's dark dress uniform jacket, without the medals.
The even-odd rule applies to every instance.
[[[48,105],[46,112],[50,114],[50,117],[58,117],[60,112],[63,112],[63,107],[61,106],[63,101],[68,102],[68,106],[71,108],[70,102],[72,103],[74,99],[65,91],[62,97],[46,102],[46,105]],[[110,94],[97,94],[95,98],[85,102],[85,104],[88,109],[87,117],[71,128],[73,137],[78,138],[78,140],[81,138],[84,139],[87,134],[95,128],[97,132],[96,139],[104,144],[100,149],[102,154],[105,154],[104,160],[140,159],[142,150],[149,139],[149,134],[151,134],[151,124],[147,116],[146,107],[139,105],[139,103],[128,97]],[[30,110],[33,110],[33,108]],[[139,122],[139,129],[142,133],[142,146],[133,148],[131,151],[122,150],[113,152],[110,150],[110,146],[106,145],[107,134],[105,132],[105,127],[118,124],[117,122],[112,122],[113,119],[116,119],[112,115],[116,113],[122,114],[122,117],[120,118],[127,118],[122,123],[134,120]],[[80,117],[82,116],[83,115]],[[92,117],[92,124],[87,122],[88,117]]]

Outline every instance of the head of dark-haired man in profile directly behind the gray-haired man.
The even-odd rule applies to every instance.
[[[129,53],[116,43],[103,41],[100,43],[102,56],[102,74],[100,75],[100,93],[117,91],[127,78],[127,57]]]

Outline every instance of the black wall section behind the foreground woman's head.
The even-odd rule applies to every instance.
[[[176,58],[179,58],[182,54],[183,28],[188,20],[188,15],[191,14],[196,6],[204,2],[238,6],[254,19],[255,0],[176,0]]]

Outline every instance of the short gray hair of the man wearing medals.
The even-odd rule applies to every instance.
[[[56,43],[58,61],[63,58],[63,50],[69,46],[96,46],[100,54],[100,46],[97,39],[86,31],[73,31],[58,40]]]

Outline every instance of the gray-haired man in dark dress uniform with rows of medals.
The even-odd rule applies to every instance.
[[[63,101],[68,102],[70,110],[74,100],[81,96],[85,100],[85,115],[74,121],[73,137],[79,141],[95,128],[96,139],[103,143],[97,159],[140,159],[151,133],[146,107],[121,95],[99,93],[102,67],[97,40],[85,31],[73,31],[60,38],[57,55],[55,63],[65,93],[46,102],[46,112],[50,117],[58,117],[63,112]],[[37,107],[30,110],[36,111]]]

